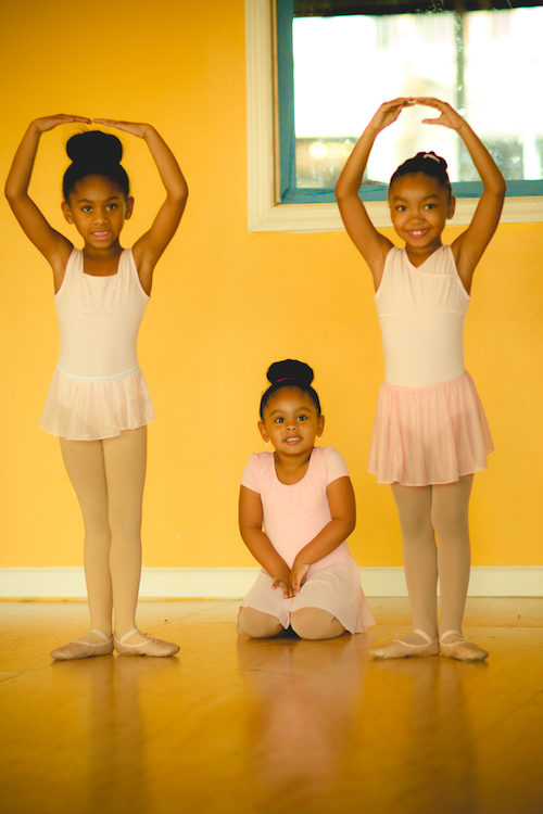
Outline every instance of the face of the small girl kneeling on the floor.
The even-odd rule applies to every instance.
[[[277,391],[264,408],[264,421],[258,421],[264,441],[270,441],[274,449],[285,456],[311,451],[324,427],[324,416],[317,415],[310,395],[298,387]]]

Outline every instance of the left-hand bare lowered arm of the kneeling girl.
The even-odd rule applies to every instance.
[[[294,596],[290,584],[290,569],[262,531],[262,499],[247,486],[239,493],[239,529],[243,543],[253,557],[274,577],[274,588],[281,588],[285,598]]]

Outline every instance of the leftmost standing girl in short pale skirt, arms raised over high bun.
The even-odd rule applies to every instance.
[[[83,250],[75,249],[28,196],[41,133],[75,122],[91,124],[66,115],[33,122],[5,185],[15,217],[53,270],[61,348],[40,427],[60,437],[85,522],[91,631],[51,656],[84,659],[114,648],[123,654],[173,656],[177,645],[149,638],[136,626],[147,424],[154,418],[136,341],[154,266],[179,225],[188,189],[169,148],[151,125],[94,119],[147,142],[166,200],[150,230],[132,249],[122,249],[121,230],[134,199],[119,164],[121,142],[100,130],[72,137],[62,209],[84,239]]]

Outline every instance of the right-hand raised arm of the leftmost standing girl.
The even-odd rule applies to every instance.
[[[110,118],[94,118],[93,122],[143,139],[166,189],[166,200],[159,209],[152,227],[132,246],[141,284],[149,293],[153,269],[174,237],[185,211],[189,194],[187,182],[172,150],[151,125],[116,122]]]

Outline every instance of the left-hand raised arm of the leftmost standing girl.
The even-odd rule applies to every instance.
[[[34,245],[51,264],[55,282],[58,281],[58,276],[60,276],[62,281],[66,262],[73,246],[63,234],[48,224],[34,201],[29,198],[28,186],[41,133],[52,130],[58,125],[70,124],[72,122],[90,124],[90,118],[67,116],[61,113],[55,116],[36,118],[31,122],[15,153],[8,180],[5,181],[5,196],[13,209],[13,214],[27,238],[31,240]],[[59,287],[56,285],[56,288]]]

